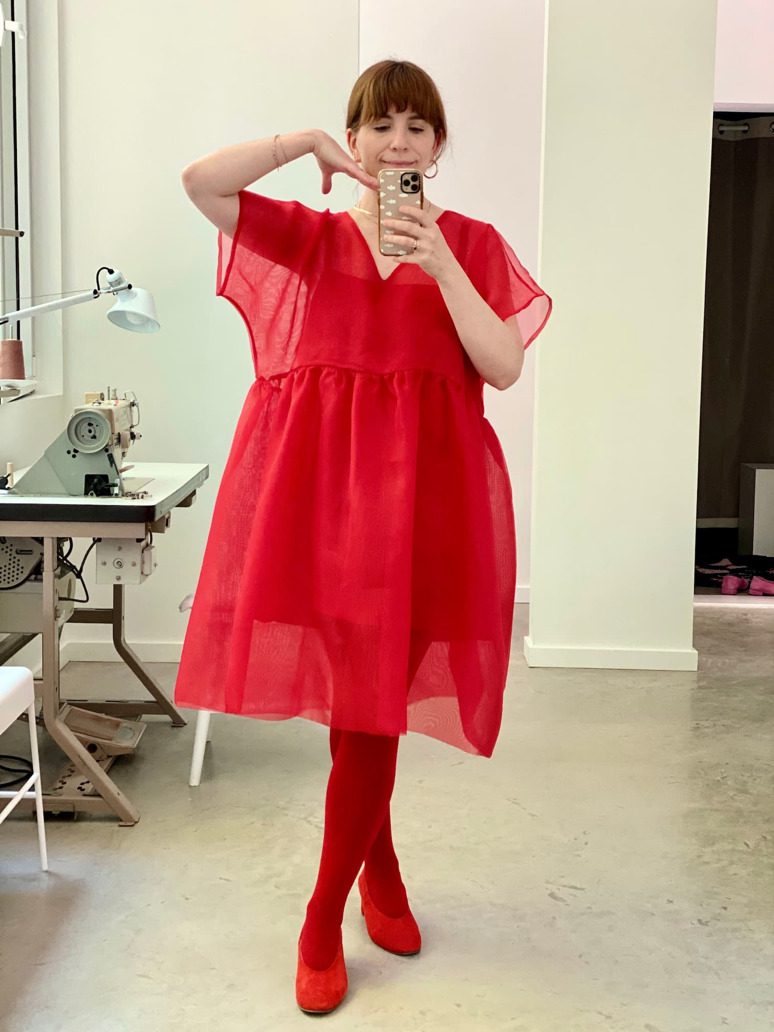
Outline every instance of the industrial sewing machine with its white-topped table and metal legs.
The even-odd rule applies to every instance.
[[[40,718],[68,761],[43,793],[43,808],[114,812],[127,825],[138,820],[139,812],[107,770],[119,755],[134,751],[147,724],[126,717],[164,714],[172,727],[186,721],[126,642],[125,588],[154,572],[154,535],[168,529],[173,508],[192,505],[208,476],[206,465],[195,463],[125,465],[139,437],[138,417],[134,395],[87,394],[36,462],[0,478],[0,633],[7,634],[0,641],[0,664],[42,635],[42,676],[36,678]],[[136,474],[131,480],[124,477],[130,469]],[[76,538],[91,539],[77,567],[70,559]],[[112,606],[78,609],[76,603],[89,601],[83,575],[93,548],[97,583],[112,586]],[[75,598],[78,584],[85,598]],[[117,652],[153,699],[63,704],[59,639],[68,621],[110,624]],[[33,802],[23,800],[20,808]]]

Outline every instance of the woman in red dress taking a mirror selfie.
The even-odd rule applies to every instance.
[[[218,288],[241,313],[256,380],[216,503],[175,686],[182,706],[330,728],[319,876],[296,999],[347,991],[342,920],[358,879],[370,937],[417,953],[392,844],[399,736],[490,756],[516,577],[511,487],[483,384],[518,379],[550,298],[492,226],[425,197],[384,225],[382,168],[423,173],[447,141],[430,77],[368,68],[350,154],[320,130],[227,147],[183,173],[219,229]],[[246,188],[314,154],[365,190],[317,212]],[[438,166],[437,166],[438,170]],[[430,175],[428,179],[432,179]]]

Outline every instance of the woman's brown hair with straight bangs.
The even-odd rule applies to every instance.
[[[429,125],[441,143],[436,159],[446,150],[449,131],[444,102],[430,76],[411,61],[379,61],[366,68],[352,88],[347,106],[347,128],[353,132],[368,122],[413,108]]]

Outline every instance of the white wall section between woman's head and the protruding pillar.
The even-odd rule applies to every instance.
[[[424,0],[386,20],[382,0],[360,2],[360,70],[384,58],[414,61],[444,99],[452,148],[427,196],[490,222],[540,282],[538,232],[545,0]],[[546,288],[547,289],[547,288]],[[513,486],[518,547],[516,601],[529,585],[535,352],[507,391],[484,387],[487,419],[503,445]]]

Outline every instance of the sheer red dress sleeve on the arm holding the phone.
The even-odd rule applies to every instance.
[[[487,224],[473,248],[469,277],[501,319],[518,316],[516,321],[527,348],[546,325],[552,301],[493,226]]]

